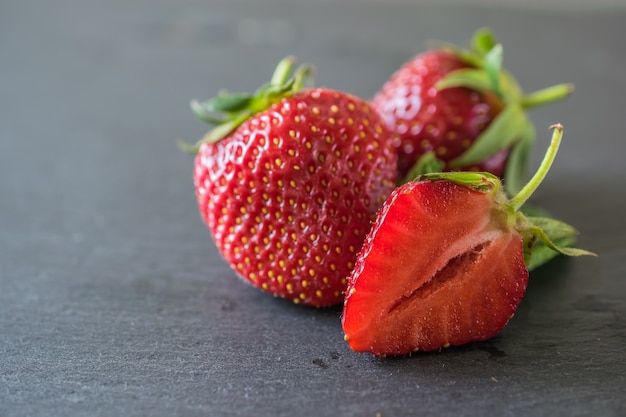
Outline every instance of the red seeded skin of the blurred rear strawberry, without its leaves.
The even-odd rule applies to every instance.
[[[427,152],[434,152],[449,170],[449,161],[465,152],[502,109],[492,95],[466,87],[435,86],[452,71],[470,68],[451,51],[433,50],[404,64],[383,85],[371,103],[387,127],[398,135],[398,170],[404,177]],[[457,170],[489,171],[501,177],[508,151],[483,163]]]

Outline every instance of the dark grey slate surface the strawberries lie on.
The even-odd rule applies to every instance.
[[[272,1],[0,3],[0,415],[625,415],[626,12]],[[483,25],[527,90],[577,85],[532,113],[539,145],[566,128],[535,201],[600,257],[533,273],[493,340],[405,359],[235,278],[174,144],[205,129],[188,101],[289,53],[369,97]]]

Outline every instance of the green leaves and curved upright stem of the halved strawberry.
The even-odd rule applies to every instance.
[[[545,216],[525,215],[521,211],[524,203],[546,177],[561,144],[563,126],[556,124],[552,126],[552,129],[550,146],[537,172],[511,199],[507,199],[502,192],[500,179],[486,172],[436,172],[420,175],[417,180],[447,180],[493,195],[496,203],[505,213],[508,225],[514,227],[522,236],[524,261],[528,270],[543,265],[558,254],[595,256],[592,252],[572,247],[578,234],[574,227]]]

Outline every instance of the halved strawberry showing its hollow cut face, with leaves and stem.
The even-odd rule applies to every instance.
[[[510,200],[489,173],[425,174],[394,190],[348,280],[342,323],[352,349],[402,355],[489,339],[521,302],[535,255],[591,254],[560,245],[571,226],[519,211],[561,134],[557,125],[539,170]]]

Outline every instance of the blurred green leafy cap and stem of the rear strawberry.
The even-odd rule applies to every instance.
[[[450,161],[449,166],[460,168],[476,164],[510,148],[504,178],[507,194],[514,195],[525,182],[529,154],[535,139],[535,129],[526,110],[563,99],[574,91],[574,87],[572,84],[558,84],[525,94],[515,78],[503,68],[502,45],[486,28],[474,33],[471,49],[453,45],[444,45],[444,49],[472,68],[452,71],[437,83],[436,88],[471,88],[496,97],[503,106],[473,145]]]

